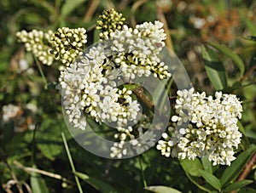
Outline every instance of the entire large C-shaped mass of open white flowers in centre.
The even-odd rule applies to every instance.
[[[74,128],[85,128],[85,114],[96,122],[117,122],[119,126],[136,121],[140,111],[137,100],[131,99],[131,90],[115,88],[114,81],[118,75],[148,77],[151,71],[155,77],[171,76],[157,57],[165,45],[162,26],[159,21],[145,22],[134,31],[124,26],[123,31],[111,33],[111,44],[102,42],[89,48],[81,61],[61,72],[63,106]]]

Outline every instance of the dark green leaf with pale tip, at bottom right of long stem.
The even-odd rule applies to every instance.
[[[103,193],[105,193],[105,192],[106,193],[117,192],[116,190],[113,189],[113,187],[111,185],[102,181],[99,178],[92,178],[92,177],[89,177],[85,173],[79,173],[79,172],[75,172],[74,174],[77,175],[80,179],[83,179],[85,182],[90,184],[96,190],[99,190]]]

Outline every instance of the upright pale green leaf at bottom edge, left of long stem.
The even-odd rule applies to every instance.
[[[33,168],[37,168],[36,165],[32,166]],[[30,184],[32,188],[32,192],[37,192],[37,193],[48,193],[49,190],[44,182],[44,179],[39,175],[39,173],[31,173],[30,177]]]

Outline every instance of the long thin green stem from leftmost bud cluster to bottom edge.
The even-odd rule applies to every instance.
[[[44,80],[44,84],[45,84],[45,85],[44,85],[44,88],[47,90],[47,89],[48,89],[48,87],[47,87],[48,83],[47,83],[47,80],[46,80],[46,78],[45,78],[45,76],[44,76],[44,71],[42,71],[42,68],[41,68],[40,64],[38,63],[38,60],[37,60],[36,58],[35,58],[35,60],[36,60],[36,63],[37,63],[37,65],[38,65],[38,70],[40,71],[40,74],[41,74],[41,76],[42,76],[42,78],[43,78],[43,80]],[[50,97],[50,99],[51,99],[52,105],[55,106],[55,101],[54,101],[54,99],[53,99],[52,97]],[[57,111],[56,111],[55,108],[54,108],[54,111],[55,111],[55,115],[56,115],[56,117],[57,117],[58,126],[59,126],[59,128],[60,128],[60,130],[61,130],[61,137],[62,137],[62,141],[63,141],[64,146],[65,146],[65,150],[66,150],[66,153],[67,153],[67,158],[68,158],[70,167],[71,167],[71,169],[72,169],[72,172],[75,173],[75,172],[76,172],[76,169],[75,169],[75,167],[74,167],[73,159],[72,159],[70,150],[69,150],[68,145],[67,145],[67,139],[66,139],[65,134],[64,134],[64,132],[63,132],[63,128],[61,127],[61,122],[60,122],[60,120],[59,120],[59,118],[58,118],[58,113],[57,113]],[[80,184],[80,182],[79,182],[79,177],[76,176],[76,175],[74,175],[74,179],[75,179],[76,184],[77,184],[77,186],[78,186],[79,193],[83,193],[81,184]]]

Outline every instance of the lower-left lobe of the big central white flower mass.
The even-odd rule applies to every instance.
[[[90,48],[80,61],[61,72],[63,107],[74,128],[85,128],[85,113],[96,122],[117,122],[119,125],[137,117],[139,104],[131,99],[131,90],[113,88],[116,86],[113,79],[117,75],[111,72],[103,74],[102,66],[106,62],[104,47],[98,44]],[[123,102],[119,103],[119,99]]]

